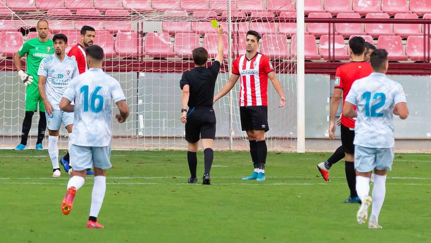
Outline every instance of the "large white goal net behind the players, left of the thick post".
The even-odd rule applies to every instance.
[[[81,41],[80,29],[96,29],[94,44],[105,52],[104,70],[121,83],[130,108],[126,123],[119,124],[112,107],[112,148],[185,149],[179,81],[194,67],[191,51],[203,46],[210,65],[217,53],[217,19],[225,30],[224,61],[215,93],[229,80],[234,59],[245,54],[245,33],[261,35],[259,52],[269,56],[287,99],[280,98],[268,81],[268,149],[296,151],[296,62],[290,49],[296,16],[292,0],[8,0],[0,1],[0,148],[15,148],[21,141],[25,115],[25,86],[13,65],[13,55],[23,42],[37,37],[36,24],[45,19],[50,34],[68,37],[69,47]],[[282,20],[280,20],[282,19]],[[21,59],[25,68],[25,56]],[[215,149],[248,148],[239,115],[240,81],[214,104],[217,126]],[[28,147],[37,139],[36,112]],[[67,148],[67,132],[60,129],[60,148]],[[47,139],[45,139],[47,140]],[[47,148],[45,141],[43,145]]]

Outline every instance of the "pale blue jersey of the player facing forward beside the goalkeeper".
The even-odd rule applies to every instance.
[[[42,59],[38,76],[47,77],[45,82],[45,95],[54,110],[60,110],[60,100],[72,78],[79,76],[78,64],[73,58],[64,56],[62,62],[55,54]]]

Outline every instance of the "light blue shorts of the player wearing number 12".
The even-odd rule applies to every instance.
[[[355,145],[355,169],[358,172],[370,172],[373,169],[392,170],[394,147],[365,148]]]

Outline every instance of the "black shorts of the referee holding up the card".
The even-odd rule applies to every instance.
[[[187,111],[186,141],[195,143],[201,138],[215,138],[213,108],[192,108]]]

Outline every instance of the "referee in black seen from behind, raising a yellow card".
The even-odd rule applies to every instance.
[[[202,177],[203,185],[210,185],[209,171],[211,170],[214,152],[212,140],[215,138],[215,113],[212,108],[214,87],[220,64],[223,61],[223,27],[217,27],[219,40],[217,43],[217,56],[211,67],[205,68],[208,61],[208,52],[199,47],[192,51],[194,68],[185,72],[180,80],[182,93],[181,122],[186,123],[187,161],[190,175],[188,183],[197,183],[197,149],[199,135],[202,138],[203,160],[205,172]],[[187,105],[189,107],[187,111]]]

